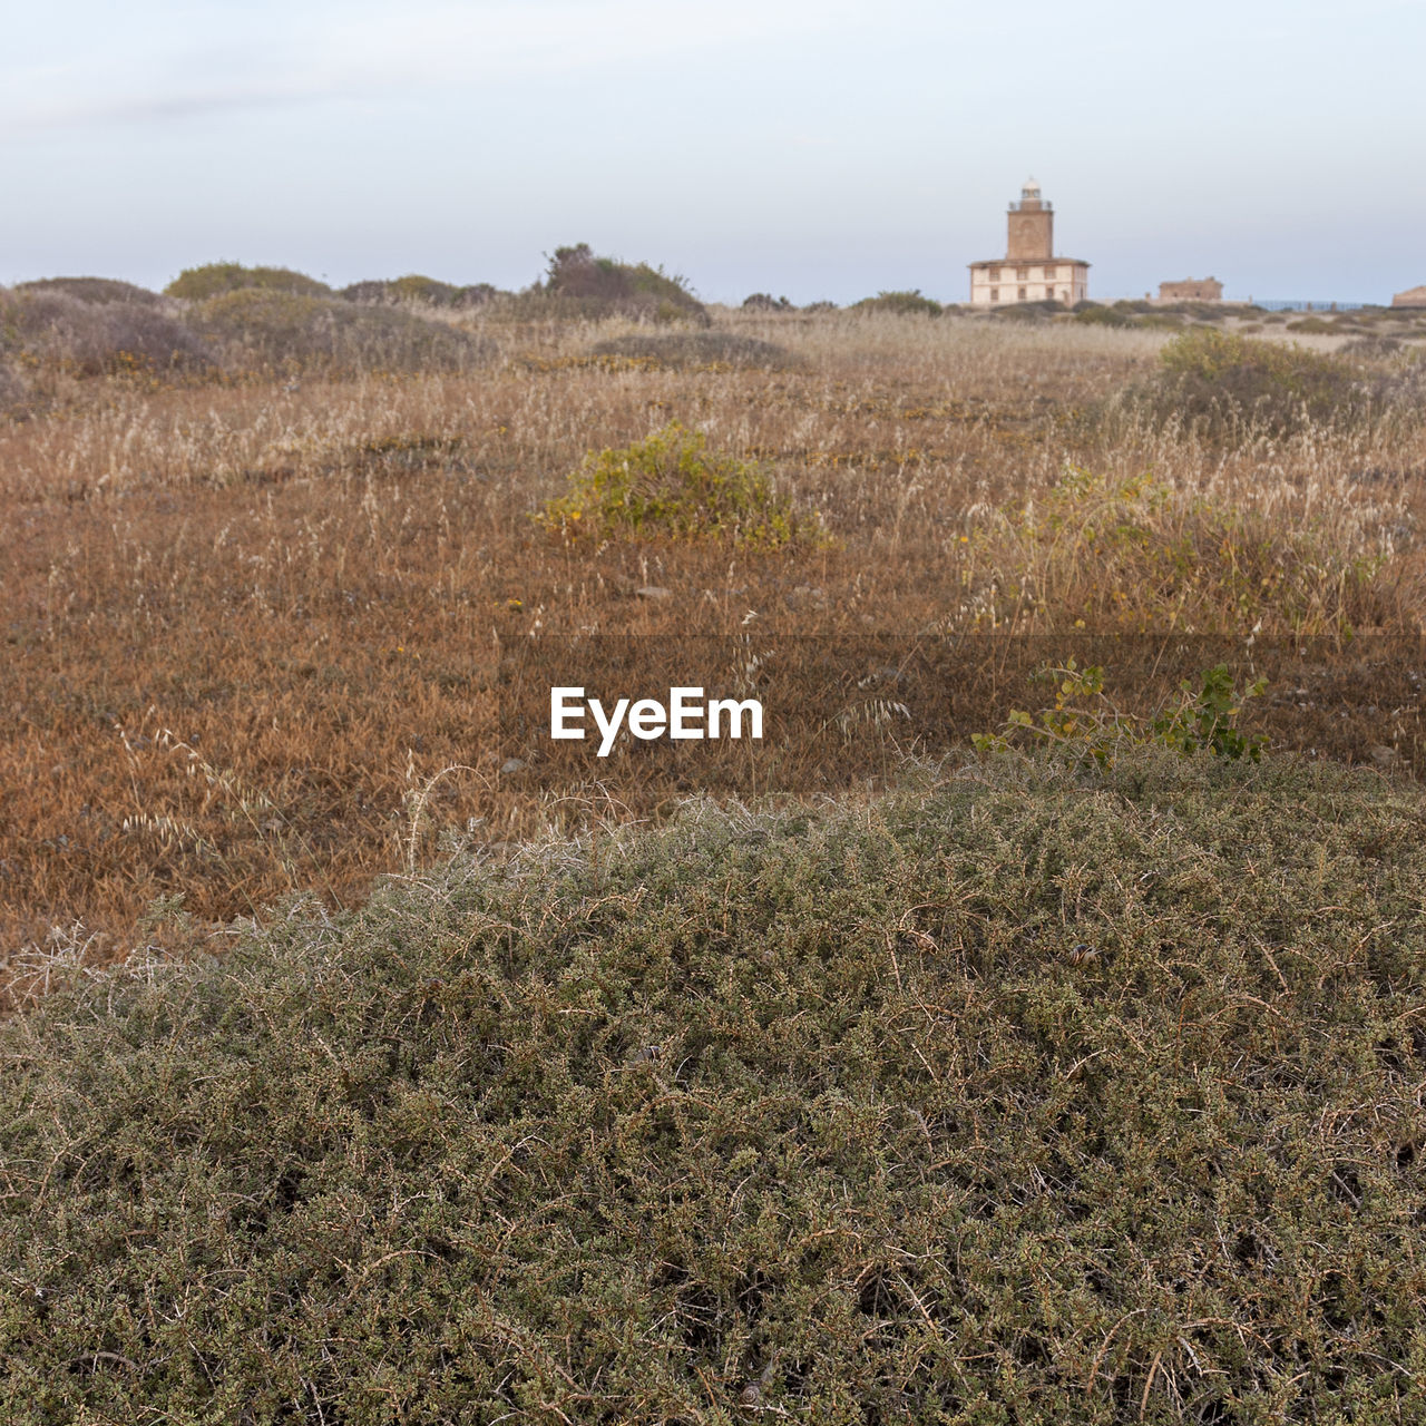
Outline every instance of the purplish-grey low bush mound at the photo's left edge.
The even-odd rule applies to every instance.
[[[80,376],[188,372],[212,361],[201,337],[148,304],[93,302],[57,289],[0,292],[0,351]]]

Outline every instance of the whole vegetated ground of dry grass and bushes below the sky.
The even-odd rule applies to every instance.
[[[1426,1419],[1426,322],[552,274],[0,291],[0,1419]]]

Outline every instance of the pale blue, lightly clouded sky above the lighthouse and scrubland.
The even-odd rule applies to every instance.
[[[1034,175],[1095,298],[1426,282],[1422,0],[0,9],[0,282],[208,261],[709,301],[968,295]]]

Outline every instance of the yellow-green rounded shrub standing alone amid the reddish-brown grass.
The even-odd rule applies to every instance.
[[[761,465],[714,456],[677,422],[623,449],[590,452],[539,523],[566,536],[726,539],[754,549],[823,538],[816,513],[780,495]]]

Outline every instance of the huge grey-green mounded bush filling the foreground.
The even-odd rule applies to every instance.
[[[1007,760],[0,1028],[0,1416],[1426,1420],[1426,803]]]

